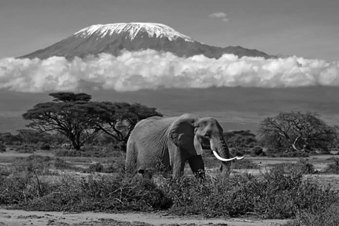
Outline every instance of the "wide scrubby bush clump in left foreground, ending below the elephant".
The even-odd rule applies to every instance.
[[[63,176],[38,185],[36,177],[24,171],[0,177],[0,205],[44,211],[150,211],[169,208],[171,200],[146,179]]]

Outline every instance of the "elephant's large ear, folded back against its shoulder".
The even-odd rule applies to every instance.
[[[179,118],[169,127],[169,139],[180,149],[188,152],[195,150],[193,142],[195,121],[195,119]]]

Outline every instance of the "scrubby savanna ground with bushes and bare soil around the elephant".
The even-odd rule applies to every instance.
[[[206,179],[124,170],[124,151],[6,146],[0,152],[0,225],[320,226],[339,223],[338,154],[259,156],[231,172],[205,150]],[[265,150],[264,150],[265,151]],[[241,152],[241,153],[240,153]],[[258,153],[257,153],[258,154]]]

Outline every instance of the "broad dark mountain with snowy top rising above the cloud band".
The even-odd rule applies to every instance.
[[[117,56],[122,49],[129,51],[153,49],[171,52],[179,57],[200,54],[209,58],[219,58],[223,54],[234,54],[239,57],[274,57],[241,46],[221,48],[206,45],[160,23],[113,23],[86,27],[49,47],[19,58],[45,59],[53,56],[83,58],[100,53]]]

